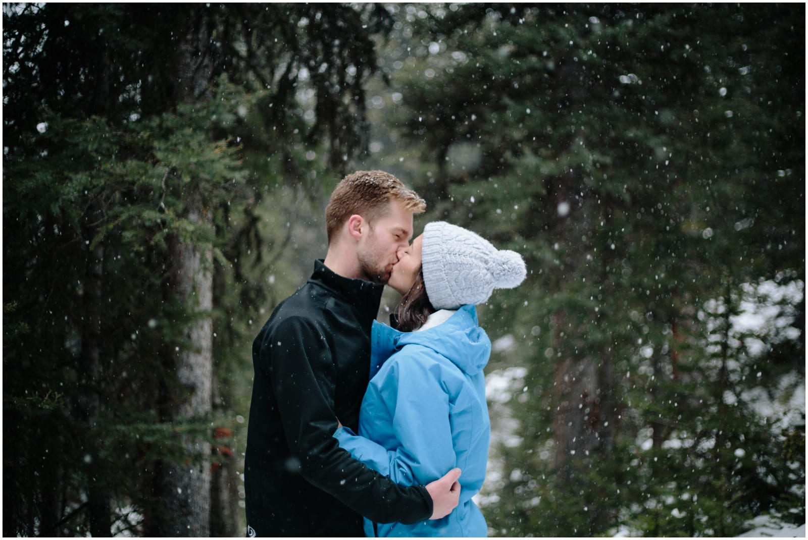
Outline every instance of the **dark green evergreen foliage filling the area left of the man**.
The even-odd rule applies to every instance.
[[[379,6],[3,6],[4,534],[164,534],[166,463],[221,462],[237,492],[252,324],[288,292],[267,274],[297,264],[283,224],[363,152],[389,23]],[[176,294],[181,249],[213,250],[211,312]],[[176,357],[206,319],[214,409],[175,421]],[[241,534],[230,521],[212,532]]]

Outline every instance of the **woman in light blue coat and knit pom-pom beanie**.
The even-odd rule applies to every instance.
[[[403,295],[398,329],[373,323],[372,379],[359,435],[341,427],[335,437],[403,485],[425,485],[460,467],[461,495],[440,520],[365,519],[368,536],[486,536],[486,520],[471,498],[486,475],[490,421],[482,369],[491,344],[474,304],[486,302],[494,288],[516,287],[525,274],[519,253],[440,221],[399,253],[388,282]]]

